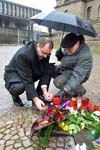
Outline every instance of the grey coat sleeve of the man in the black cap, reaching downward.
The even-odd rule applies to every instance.
[[[80,55],[78,62],[72,71],[72,75],[64,87],[68,90],[72,90],[86,81],[92,69],[92,62],[91,54],[84,53]]]

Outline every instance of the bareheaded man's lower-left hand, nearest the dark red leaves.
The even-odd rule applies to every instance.
[[[39,99],[38,97],[33,98],[32,101],[34,102],[37,109],[39,109],[39,110],[46,109],[44,102],[41,99]]]

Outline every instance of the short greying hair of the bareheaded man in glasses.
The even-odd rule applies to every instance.
[[[49,48],[53,49],[53,41],[48,37],[41,37],[39,40],[36,41],[36,45],[39,44],[40,48],[44,47],[48,43],[49,43]]]

